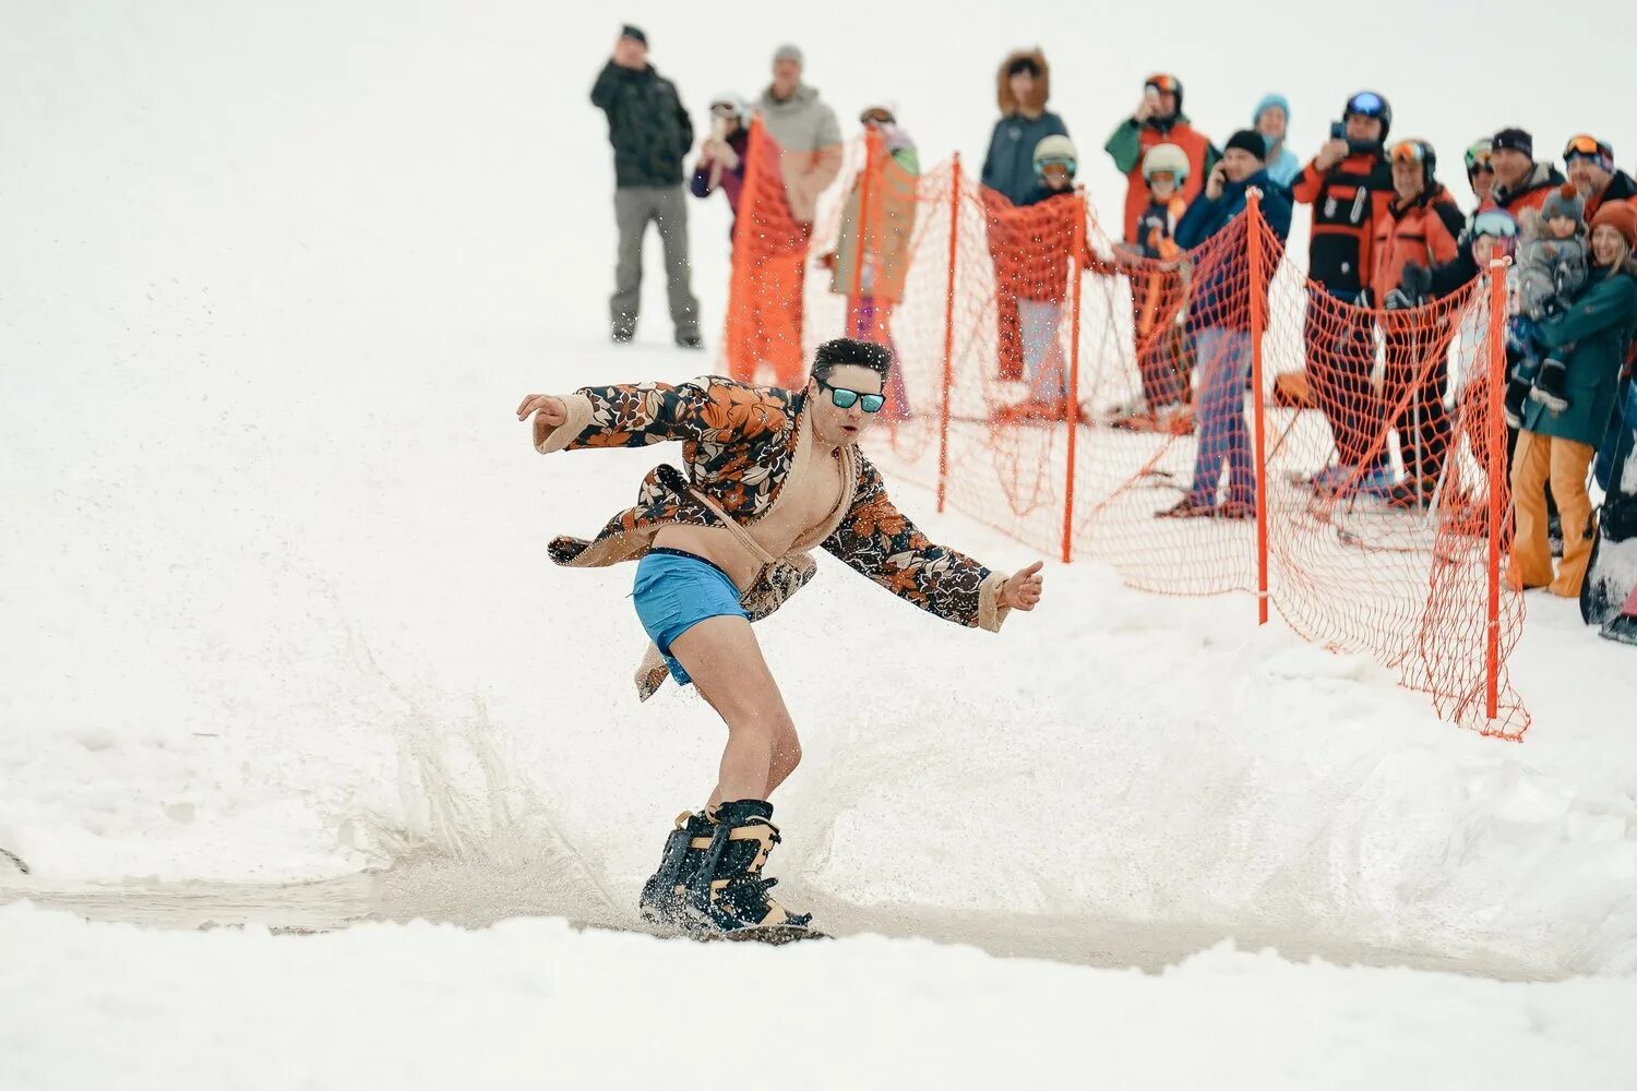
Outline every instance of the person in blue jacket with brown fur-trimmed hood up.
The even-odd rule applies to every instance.
[[[1038,188],[1035,175],[1035,149],[1049,136],[1069,136],[1062,118],[1046,110],[1051,101],[1051,65],[1039,49],[1015,49],[1000,62],[995,72],[995,103],[1000,119],[989,134],[989,150],[984,154],[985,201],[995,208],[989,219],[989,255],[995,263],[995,327],[997,327],[997,378],[1017,381],[1023,378],[1023,329],[1018,324],[1018,299],[1007,286],[1010,281],[1000,272],[1010,262],[1010,232],[1002,219],[1005,204],[1026,203]],[[992,195],[992,196],[990,196]]]

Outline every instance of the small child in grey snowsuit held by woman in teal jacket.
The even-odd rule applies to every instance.
[[[1508,329],[1508,340],[1517,365],[1506,384],[1506,422],[1517,427],[1524,399],[1534,399],[1552,412],[1568,409],[1565,357],[1575,352],[1563,345],[1545,355],[1536,339],[1540,322],[1563,314],[1586,286],[1586,201],[1572,186],[1549,195],[1539,219],[1526,224],[1524,244],[1517,249],[1517,311]]]

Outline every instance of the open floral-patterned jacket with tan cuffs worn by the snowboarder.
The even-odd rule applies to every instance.
[[[688,468],[686,479],[670,465],[652,469],[637,504],[596,538],[553,538],[547,546],[552,559],[570,568],[637,559],[671,523],[717,525],[689,486],[742,525],[753,523],[773,510],[784,481],[814,455],[802,393],[707,376],[679,386],[586,386],[561,401],[568,420],[535,432],[542,455],[674,440],[683,443]],[[1000,604],[1007,576],[935,545],[892,505],[881,473],[858,448],[843,450],[843,458],[851,468],[843,502],[827,525],[802,535],[791,550],[789,559],[804,563],[800,582],[812,576],[805,553],[817,546],[935,617],[997,631],[1008,613]],[[755,612],[751,618],[760,620]],[[650,648],[637,676],[638,694],[650,697],[663,677],[663,661]]]

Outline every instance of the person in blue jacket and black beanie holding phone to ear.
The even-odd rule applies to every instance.
[[[1262,191],[1262,218],[1283,244],[1290,234],[1290,191],[1269,178],[1267,141],[1256,129],[1241,129],[1228,141],[1205,191],[1177,222],[1177,244],[1195,250],[1226,231],[1244,213],[1252,186]],[[1156,514],[1164,519],[1256,519],[1256,466],[1244,422],[1244,386],[1251,373],[1249,247],[1236,240],[1197,254],[1195,262],[1193,321],[1202,378],[1195,396],[1193,483],[1174,507]],[[1277,255],[1262,263],[1264,293],[1277,265]],[[1228,499],[1218,504],[1224,463]]]

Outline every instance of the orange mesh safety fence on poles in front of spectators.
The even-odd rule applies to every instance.
[[[871,456],[940,509],[1151,592],[1262,594],[1264,620],[1522,736],[1488,278],[1365,311],[1310,283],[1254,203],[1144,260],[1072,190],[1015,208],[959,157],[918,170],[876,134],[840,160],[804,226],[753,129],[728,375],[799,384],[828,337],[889,343]],[[1211,515],[1162,515],[1185,497]]]

